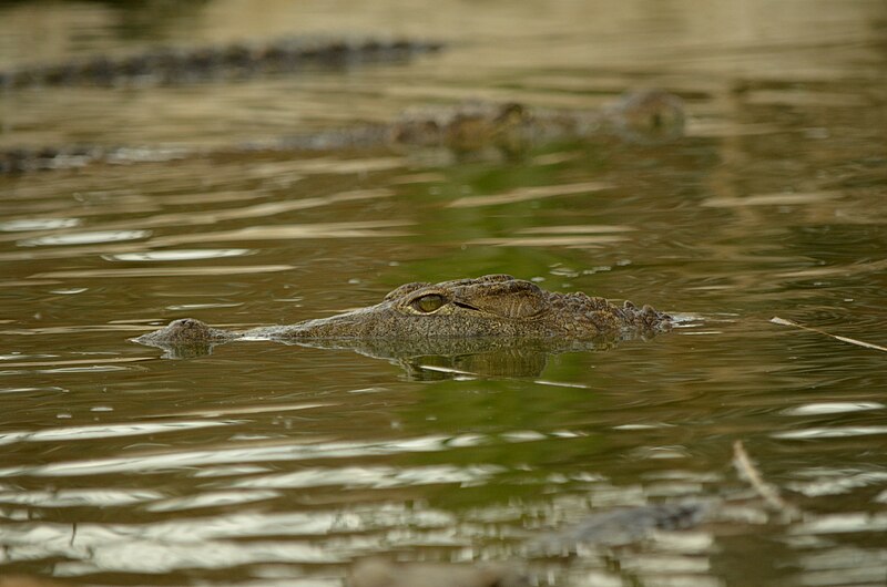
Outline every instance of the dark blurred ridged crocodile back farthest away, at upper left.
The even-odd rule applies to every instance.
[[[98,55],[0,71],[0,89],[181,85],[216,79],[290,73],[310,66],[405,61],[437,52],[442,47],[434,41],[308,41],[285,38],[265,43],[157,48],[132,55]]]

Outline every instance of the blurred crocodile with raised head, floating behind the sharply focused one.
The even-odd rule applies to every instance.
[[[394,122],[360,124],[267,141],[200,148],[67,145],[0,151],[0,174],[81,167],[91,163],[163,162],[184,157],[228,156],[256,152],[325,152],[387,147],[446,148],[456,154],[492,150],[514,156],[554,141],[616,137],[632,143],[662,143],[683,134],[683,101],[660,90],[626,93],[598,110],[533,107],[518,102],[466,103],[406,112]]]

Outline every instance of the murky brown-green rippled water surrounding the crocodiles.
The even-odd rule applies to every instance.
[[[450,48],[7,92],[0,144],[214,147],[463,99],[598,107],[639,86],[685,99],[687,136],[0,177],[0,574],[336,586],[383,554],[518,559],[540,585],[884,585],[885,354],[769,321],[887,346],[883,2],[149,6],[2,4],[0,65],[282,33]],[[269,342],[170,360],[129,342],[186,316],[288,323],[487,272],[693,320],[511,363]],[[767,515],[731,466],[736,440],[802,518]],[[732,509],[521,555],[594,512],[703,497]]]

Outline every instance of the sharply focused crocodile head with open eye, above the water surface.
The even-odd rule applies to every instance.
[[[232,340],[353,341],[521,339],[585,340],[618,333],[655,333],[672,318],[650,306],[621,306],[585,294],[546,291],[510,275],[439,284],[411,282],[381,302],[328,318],[244,331],[222,330],[183,318],[135,342],[150,346],[213,344]]]

